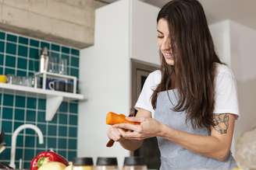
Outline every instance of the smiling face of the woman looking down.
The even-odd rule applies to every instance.
[[[174,64],[174,58],[171,49],[171,40],[169,39],[169,26],[165,19],[158,20],[158,47],[169,65]]]

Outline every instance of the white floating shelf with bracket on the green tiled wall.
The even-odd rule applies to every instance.
[[[9,92],[13,94],[21,95],[37,95],[41,98],[46,99],[46,121],[52,120],[56,111],[59,109],[60,104],[63,100],[83,100],[84,95],[75,94],[71,92],[59,92],[54,90],[42,89],[42,88],[32,88],[23,85],[11,85],[0,83],[0,88],[2,92]]]

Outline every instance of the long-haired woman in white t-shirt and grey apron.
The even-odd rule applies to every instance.
[[[108,137],[130,151],[157,137],[163,170],[236,167],[236,81],[215,53],[201,4],[172,0],[158,13],[157,29],[161,70],[148,76],[137,116],[127,118],[140,125],[114,125]]]

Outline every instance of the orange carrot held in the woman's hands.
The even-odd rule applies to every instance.
[[[140,124],[137,122],[130,122],[129,120],[126,120],[126,116],[123,114],[117,114],[112,112],[107,113],[106,123],[109,125],[114,125],[118,123]]]

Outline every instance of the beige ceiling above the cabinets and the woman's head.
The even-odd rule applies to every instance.
[[[116,2],[117,0],[101,0],[102,2]],[[169,0],[141,0],[151,5],[162,7]],[[256,0],[199,0],[204,6],[208,23],[216,23],[225,19],[232,19],[244,26],[256,29]]]

